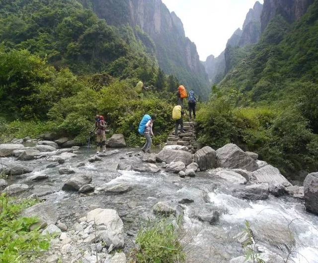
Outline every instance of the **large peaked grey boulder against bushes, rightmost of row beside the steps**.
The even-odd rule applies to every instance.
[[[217,151],[217,165],[222,168],[243,169],[255,171],[258,165],[251,157],[246,155],[236,144],[227,144]]]

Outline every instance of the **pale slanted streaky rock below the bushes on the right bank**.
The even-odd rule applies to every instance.
[[[292,184],[279,172],[279,170],[271,165],[264,166],[253,172],[253,176],[258,182],[267,182],[270,184],[282,184],[285,187],[292,186]],[[271,189],[270,189],[271,192]]]

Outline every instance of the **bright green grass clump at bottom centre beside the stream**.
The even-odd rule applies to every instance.
[[[148,220],[136,237],[139,246],[130,255],[130,263],[184,263],[185,252],[180,243],[179,224],[166,219]]]

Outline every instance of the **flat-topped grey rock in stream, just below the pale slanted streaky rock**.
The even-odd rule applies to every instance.
[[[268,198],[268,194],[268,183],[252,184],[235,190],[237,197],[248,200],[265,200]]]

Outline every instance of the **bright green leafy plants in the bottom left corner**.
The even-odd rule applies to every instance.
[[[36,202],[0,195],[0,263],[28,263],[49,249],[48,237],[40,235],[38,229],[30,231],[38,219],[19,217],[23,209]]]

